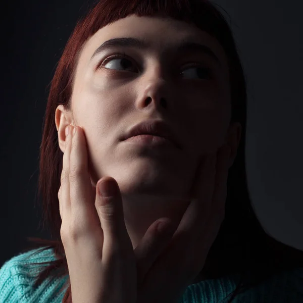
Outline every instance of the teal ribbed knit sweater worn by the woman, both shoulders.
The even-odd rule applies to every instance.
[[[35,250],[35,249],[34,249]],[[38,265],[26,267],[30,262],[40,263],[55,260],[52,249],[29,256],[34,250],[13,257],[0,269],[0,303],[55,303],[62,302],[64,291],[59,289],[67,280],[48,277],[37,288],[33,287]],[[44,266],[44,265],[43,265]],[[45,265],[46,266],[46,265]],[[180,303],[217,303],[228,302],[224,299],[232,292],[237,283],[237,276],[204,280],[189,285]],[[223,300],[224,299],[224,300]],[[238,294],[233,303],[303,303],[303,268],[275,275],[261,285]]]

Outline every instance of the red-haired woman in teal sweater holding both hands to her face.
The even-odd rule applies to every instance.
[[[146,121],[140,134],[169,139],[127,140]],[[77,130],[70,139],[68,126]],[[301,301],[303,252],[267,235],[251,207],[245,130],[245,79],[214,5],[98,2],[72,33],[49,92],[39,191],[56,240],[14,259],[22,270],[49,265],[27,297]],[[114,186],[111,199],[99,196],[101,183]],[[167,234],[157,233],[160,221]],[[46,261],[25,261],[38,257]],[[49,279],[52,287],[41,284]]]

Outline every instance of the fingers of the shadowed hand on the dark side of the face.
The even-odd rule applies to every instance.
[[[198,170],[192,186],[193,198],[172,239],[180,254],[182,254],[180,249],[182,243],[185,245],[188,241],[196,242],[197,237],[200,241],[204,236],[206,239],[212,238],[214,233],[210,230],[210,222],[218,225],[218,222],[221,224],[224,219],[224,195],[226,197],[227,162],[230,153],[230,150],[228,153],[228,148],[227,150],[221,148],[217,153],[209,155]]]

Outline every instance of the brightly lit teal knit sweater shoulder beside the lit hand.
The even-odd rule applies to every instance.
[[[53,249],[32,249],[6,261],[0,268],[0,303],[61,302],[64,293],[58,291],[66,282],[64,279],[47,277],[34,287],[37,275],[48,262],[55,261]],[[47,262],[47,264],[41,264]],[[37,263],[37,264],[32,264]]]

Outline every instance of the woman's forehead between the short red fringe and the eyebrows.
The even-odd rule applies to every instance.
[[[194,24],[162,16],[137,17],[131,15],[100,28],[86,41],[80,61],[88,63],[96,48],[103,42],[118,37],[144,38],[150,45],[148,53],[159,53],[166,47],[176,45],[178,41],[181,42],[184,39],[199,42],[211,48],[223,67],[227,69],[226,54],[216,38],[200,30]]]

